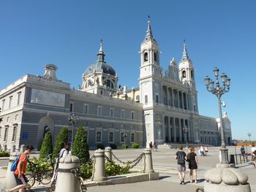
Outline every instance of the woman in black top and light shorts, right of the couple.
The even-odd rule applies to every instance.
[[[190,147],[189,153],[187,154],[187,161],[189,162],[189,169],[190,169],[190,183],[197,183],[197,167],[198,167],[198,160],[197,160],[197,153],[195,153],[195,148]]]

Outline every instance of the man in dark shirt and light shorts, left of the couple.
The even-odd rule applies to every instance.
[[[179,147],[179,150],[176,152],[175,158],[177,159],[178,164],[178,176],[180,178],[180,185],[185,185],[185,171],[186,171],[186,160],[187,155],[183,151],[183,147]]]

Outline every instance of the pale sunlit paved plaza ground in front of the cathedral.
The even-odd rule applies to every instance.
[[[234,154],[234,147],[228,147],[229,154]],[[219,147],[209,147],[208,157],[198,156],[199,169],[198,177],[199,183],[188,183],[189,181],[189,169],[187,169],[187,175],[185,180],[186,185],[179,185],[178,174],[176,171],[176,160],[175,160],[175,149],[170,149],[168,147],[159,148],[158,151],[152,152],[154,170],[159,172],[159,180],[146,181],[140,183],[127,183],[119,185],[105,185],[105,186],[96,186],[89,187],[89,192],[96,191],[105,191],[105,192],[119,192],[119,191],[146,191],[146,192],[155,192],[155,191],[195,191],[198,186],[203,186],[204,183],[204,174],[208,169],[214,168],[216,164],[219,163]],[[249,149],[248,149],[249,150]],[[122,161],[130,161],[138,157],[140,153],[143,152],[143,149],[127,149],[127,150],[113,150],[113,153]],[[186,152],[186,150],[185,150]],[[237,149],[237,153],[239,149]],[[91,155],[94,151],[90,151]],[[115,160],[115,159],[113,159]],[[2,165],[6,160],[0,160]],[[246,173],[249,176],[249,183],[251,185],[252,191],[256,192],[256,169],[251,163],[245,163],[238,165],[238,169]],[[141,169],[141,164],[138,164],[137,169]],[[0,169],[0,185],[4,183],[5,169]],[[36,191],[45,191],[45,189],[38,188]]]

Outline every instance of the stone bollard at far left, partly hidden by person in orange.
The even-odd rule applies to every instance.
[[[17,186],[15,177],[13,172],[11,172],[11,166],[12,166],[12,162],[15,161],[15,159],[17,158],[17,156],[19,155],[19,152],[14,152],[10,154],[10,158],[9,158],[9,163],[8,163],[8,167],[7,167],[7,174],[5,177],[5,187],[6,188],[13,188],[15,186]]]

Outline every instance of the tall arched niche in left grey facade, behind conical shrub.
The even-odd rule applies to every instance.
[[[53,118],[50,118],[50,117],[40,118],[38,123],[38,130],[37,130],[37,150],[40,150],[41,148],[42,139],[45,136],[45,130],[49,130],[53,135],[53,131],[54,131]]]

